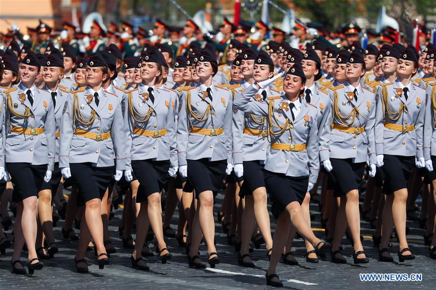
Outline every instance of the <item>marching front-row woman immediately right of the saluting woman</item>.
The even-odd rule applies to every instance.
[[[331,116],[325,130],[330,131],[328,148],[320,148],[320,160],[336,181],[334,196],[340,198],[332,243],[331,260],[346,263],[339,246],[347,228],[354,242],[354,263],[368,263],[360,241],[358,185],[369,158],[370,176],[375,176],[374,93],[360,86],[365,62],[359,50],[353,50],[347,61],[347,81],[329,91]],[[331,117],[331,119],[330,119]],[[330,121],[331,120],[331,121]],[[352,174],[352,178],[350,178]]]

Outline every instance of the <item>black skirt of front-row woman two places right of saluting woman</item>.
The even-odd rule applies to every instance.
[[[383,193],[388,195],[407,188],[407,181],[415,166],[415,156],[384,155],[383,163],[385,172]]]

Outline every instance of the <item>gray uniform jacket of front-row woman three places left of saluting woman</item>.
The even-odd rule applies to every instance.
[[[127,106],[124,118],[128,126],[126,128],[128,130],[126,170],[132,170],[131,160],[170,160],[172,167],[177,166],[176,127],[171,94],[166,90],[153,87],[155,97],[153,103],[150,98],[144,98],[143,94],[148,93],[147,89],[147,86],[140,85],[124,96]],[[138,115],[149,115],[149,117]],[[146,118],[148,121],[138,122]],[[160,137],[142,136],[134,132],[135,128],[137,132],[138,130],[158,132],[166,129],[167,133]]]

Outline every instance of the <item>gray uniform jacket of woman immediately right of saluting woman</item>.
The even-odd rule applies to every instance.
[[[347,159],[352,158],[353,163],[366,162],[375,164],[375,98],[374,93],[362,86],[358,90],[358,100],[353,97],[354,87],[345,82],[343,85],[333,87],[329,91],[331,111],[328,113],[326,130],[330,132],[328,150],[320,148],[321,162],[329,158]],[[335,107],[344,118],[338,117]],[[356,112],[355,118],[354,112]],[[349,118],[345,119],[350,115]],[[354,120],[353,120],[354,118]],[[344,125],[347,123],[347,125]],[[333,126],[343,125],[347,128],[364,129],[361,134],[343,132],[333,129]]]

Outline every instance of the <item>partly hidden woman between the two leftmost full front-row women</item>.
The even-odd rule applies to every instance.
[[[59,83],[63,77],[63,63],[57,54],[50,54],[44,66],[44,90],[50,93],[53,102],[55,123],[56,123],[56,149],[55,164],[50,181],[44,182],[38,193],[38,234],[36,251],[42,259],[51,259],[58,252],[55,243],[52,226],[52,198],[56,195],[59,184],[61,183],[61,169],[59,168],[59,140],[61,136],[62,109],[66,101],[68,91],[63,90]],[[43,232],[47,240],[48,248],[44,247]],[[47,254],[46,254],[47,252]]]

